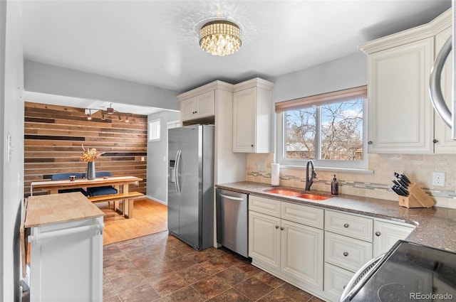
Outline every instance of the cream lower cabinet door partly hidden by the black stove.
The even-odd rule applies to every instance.
[[[396,225],[389,222],[375,220],[373,237],[373,257],[377,257],[393,245],[398,240],[405,239],[415,228],[413,226]]]

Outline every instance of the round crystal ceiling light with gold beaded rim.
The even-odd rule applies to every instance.
[[[239,26],[218,20],[202,26],[199,31],[199,46],[212,55],[231,55],[242,45]]]

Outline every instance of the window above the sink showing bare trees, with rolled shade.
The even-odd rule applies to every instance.
[[[366,86],[276,103],[279,163],[368,168]]]

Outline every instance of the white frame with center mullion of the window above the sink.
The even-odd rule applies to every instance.
[[[341,92],[343,92],[342,90]],[[330,92],[330,94],[334,94],[334,92]],[[326,95],[326,94],[324,94]],[[287,110],[299,109],[299,108],[309,108],[309,107],[316,107],[316,158],[311,159],[314,161],[316,168],[328,170],[328,171],[338,171],[338,170],[346,170],[346,171],[361,171],[368,169],[368,99],[366,94],[358,95],[354,97],[333,97],[332,99],[327,99],[324,97],[320,97],[322,95],[318,95],[314,97],[315,101],[312,102],[312,97],[304,98],[305,101],[301,102],[301,106],[299,105],[299,100],[292,100],[286,102],[294,102],[293,107],[285,108],[276,112],[276,161],[280,163],[282,166],[289,166],[289,167],[304,167],[306,166],[308,159],[289,159],[286,158],[286,142],[285,139],[285,131],[286,131],[286,119],[285,114]],[[324,99],[324,100],[322,100]],[[363,160],[361,161],[338,161],[338,160],[327,160],[327,159],[318,159],[320,158],[321,152],[321,121],[320,121],[320,108],[324,104],[334,104],[338,102],[348,102],[353,99],[363,99]],[[285,102],[284,102],[285,103]],[[280,106],[280,105],[279,105]],[[276,105],[277,108],[277,105]],[[276,109],[277,111],[277,109]]]

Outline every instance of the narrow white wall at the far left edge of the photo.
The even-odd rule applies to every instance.
[[[0,1],[0,301],[19,301],[24,199],[24,68],[19,2]],[[8,139],[11,138],[11,152]]]

